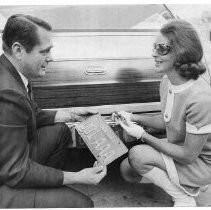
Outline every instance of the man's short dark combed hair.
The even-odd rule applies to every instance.
[[[23,14],[12,15],[3,30],[3,50],[11,54],[13,43],[19,42],[27,53],[31,52],[34,46],[40,43],[37,36],[38,27],[52,30],[51,25],[40,18]]]

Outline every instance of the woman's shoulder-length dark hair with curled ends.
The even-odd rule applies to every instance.
[[[203,49],[193,26],[184,20],[173,20],[165,24],[161,34],[168,38],[175,52],[175,69],[186,79],[197,79],[206,71],[201,60]]]

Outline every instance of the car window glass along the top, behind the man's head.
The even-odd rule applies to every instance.
[[[162,5],[40,5],[0,6],[0,30],[13,14],[48,21],[54,31],[130,31],[159,29],[172,14]]]

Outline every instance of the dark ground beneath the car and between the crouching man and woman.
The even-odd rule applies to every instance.
[[[80,170],[94,162],[89,151],[70,150],[68,169]],[[130,184],[119,173],[121,158],[108,166],[108,174],[97,186],[74,185],[89,195],[95,207],[170,207],[170,196],[153,184]],[[211,187],[197,198],[198,206],[211,206]]]

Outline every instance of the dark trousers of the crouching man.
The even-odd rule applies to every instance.
[[[38,130],[38,141],[30,144],[31,159],[62,169],[71,133],[64,123]],[[72,160],[68,160],[72,161]],[[14,189],[0,186],[0,208],[74,208],[93,207],[92,200],[70,187]]]

